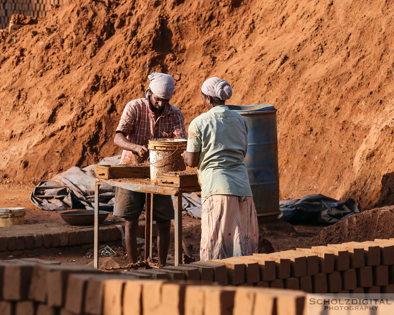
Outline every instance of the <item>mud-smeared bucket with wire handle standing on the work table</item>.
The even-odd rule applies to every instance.
[[[186,170],[181,154],[186,150],[185,139],[151,139],[149,140],[149,159],[151,181],[156,182],[157,173]]]

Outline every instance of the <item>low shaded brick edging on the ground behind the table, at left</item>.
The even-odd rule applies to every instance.
[[[122,226],[124,230],[124,226]],[[157,226],[153,224],[153,235],[157,235]],[[145,237],[145,224],[139,224],[137,237]],[[117,241],[122,239],[122,232],[117,226],[102,226],[99,229],[99,243]],[[9,237],[0,237],[0,252],[24,250],[33,248],[50,248],[58,246],[74,246],[94,243],[93,228],[78,230],[35,233],[32,235],[18,235]]]

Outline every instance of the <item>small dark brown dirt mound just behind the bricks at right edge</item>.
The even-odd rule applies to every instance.
[[[367,210],[327,226],[316,237],[320,245],[394,237],[394,206]]]

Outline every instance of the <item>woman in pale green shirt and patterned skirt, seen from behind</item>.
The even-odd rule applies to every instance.
[[[230,84],[209,78],[201,87],[208,109],[189,126],[186,164],[197,166],[201,185],[200,259],[223,259],[257,252],[258,224],[247,169],[246,120],[225,101]]]

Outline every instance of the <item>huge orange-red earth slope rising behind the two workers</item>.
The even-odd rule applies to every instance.
[[[199,88],[278,109],[281,198],[393,203],[392,2],[74,0],[0,31],[1,177],[48,179],[119,154],[114,130],[147,74],[175,78],[186,123]],[[14,39],[13,36],[15,35]]]

